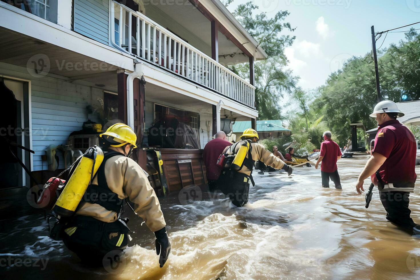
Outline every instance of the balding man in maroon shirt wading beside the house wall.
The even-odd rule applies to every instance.
[[[206,165],[207,181],[210,191],[218,189],[219,186],[218,179],[221,169],[216,165],[217,160],[223,150],[231,145],[231,142],[226,141],[226,133],[219,131],[216,133],[215,139],[209,141],[204,147],[203,160]]]

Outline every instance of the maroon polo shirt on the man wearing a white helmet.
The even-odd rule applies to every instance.
[[[413,133],[398,120],[381,124],[375,137],[373,153],[386,157],[378,171],[385,183],[414,183],[416,141]]]

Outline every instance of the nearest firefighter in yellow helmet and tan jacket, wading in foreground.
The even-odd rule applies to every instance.
[[[137,136],[123,123],[100,134],[104,159],[76,215],[63,226],[61,237],[82,261],[101,265],[108,254],[119,254],[128,245],[126,222],[119,219],[123,199],[134,202],[134,210],[155,233],[156,253],[163,267],[171,250],[160,204],[142,168],[131,158]],[[114,256],[110,256],[113,258]]]

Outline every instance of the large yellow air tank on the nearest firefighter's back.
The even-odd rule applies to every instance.
[[[71,217],[74,214],[103,158],[104,154],[97,146],[86,150],[55,203],[55,213],[61,217]]]

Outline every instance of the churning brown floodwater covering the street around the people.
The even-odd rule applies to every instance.
[[[339,160],[342,191],[332,182],[332,188],[322,188],[320,170],[298,167],[290,177],[255,172],[256,186],[251,186],[249,203],[242,208],[206,194],[203,200],[187,203],[177,195],[161,199],[172,245],[163,268],[153,234],[128,207],[124,215],[130,217],[130,247],[115,267],[91,269],[63,243],[47,237],[43,212],[20,205],[18,218],[1,217],[0,277],[420,279],[420,234],[407,233],[386,220],[376,188],[369,209],[364,194],[355,191],[367,158]],[[419,166],[416,171],[420,175]],[[365,181],[365,190],[369,183]],[[417,180],[410,195],[417,223],[419,185]],[[28,259],[29,265],[16,265],[19,258]],[[36,259],[43,261],[38,267]],[[12,265],[4,266],[7,261]]]

